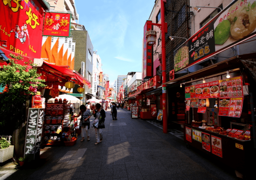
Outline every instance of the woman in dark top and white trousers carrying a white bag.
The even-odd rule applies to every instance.
[[[95,124],[93,124],[93,127],[95,128],[95,137],[96,137],[96,143],[95,145],[97,145],[98,143],[102,142],[103,139],[103,128],[105,128],[105,117],[106,117],[106,113],[103,109],[101,109],[101,105],[99,103],[97,103],[95,105],[95,110],[92,111],[93,117],[95,117],[95,120],[98,120],[98,126],[96,127]],[[94,122],[95,122],[94,120]]]

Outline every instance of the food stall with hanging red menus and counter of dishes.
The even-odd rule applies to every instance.
[[[245,174],[254,156],[250,85],[255,84],[239,68],[228,75],[185,83],[184,141]]]

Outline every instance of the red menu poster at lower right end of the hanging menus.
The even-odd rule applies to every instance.
[[[230,98],[229,117],[240,117],[243,107],[243,97],[232,97]]]

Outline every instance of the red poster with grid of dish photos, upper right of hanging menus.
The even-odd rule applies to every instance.
[[[243,97],[242,77],[233,77],[219,81],[220,97]]]

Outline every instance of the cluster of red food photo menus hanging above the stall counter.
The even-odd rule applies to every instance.
[[[240,117],[243,105],[242,77],[186,86],[185,98],[186,110],[195,107],[199,113],[205,113],[208,98],[219,98],[219,116]]]

